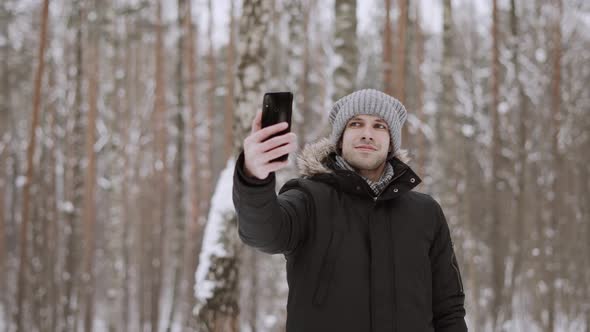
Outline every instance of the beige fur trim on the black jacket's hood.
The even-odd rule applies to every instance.
[[[327,158],[330,153],[336,152],[336,145],[330,142],[328,138],[321,138],[316,142],[308,143],[303,148],[303,151],[297,156],[297,168],[303,176],[312,176],[322,173],[333,173],[327,165]],[[399,149],[394,153],[394,157],[408,163],[408,151]],[[388,161],[391,161],[389,159]]]

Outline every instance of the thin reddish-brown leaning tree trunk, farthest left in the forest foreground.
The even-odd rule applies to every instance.
[[[34,175],[33,156],[35,154],[35,142],[39,113],[41,112],[41,83],[43,82],[43,70],[45,67],[45,44],[47,35],[47,20],[49,16],[49,0],[43,1],[41,11],[41,30],[39,33],[39,51],[37,55],[37,72],[35,73],[35,90],[33,93],[33,118],[31,121],[31,136],[27,147],[27,178],[23,187],[22,220],[20,230],[20,260],[18,267],[18,290],[17,310],[15,322],[17,332],[25,331],[24,300],[27,288],[27,247],[28,247],[28,224],[29,224],[29,200]]]

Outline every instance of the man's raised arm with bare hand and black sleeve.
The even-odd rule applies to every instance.
[[[296,150],[296,135],[272,137],[287,128],[286,122],[261,127],[256,113],[244,151],[234,171],[233,201],[238,233],[244,243],[267,253],[292,253],[305,238],[311,216],[311,199],[297,189],[275,193],[275,171],[288,165],[276,158]],[[270,138],[272,137],[272,138]]]

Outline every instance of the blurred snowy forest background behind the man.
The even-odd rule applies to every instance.
[[[469,329],[590,331],[588,1],[2,0],[0,59],[0,331],[284,331],[234,160],[265,92],[301,149],[360,88],[408,109]]]

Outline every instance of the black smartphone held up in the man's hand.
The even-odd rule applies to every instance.
[[[270,136],[271,139],[275,136],[284,135],[291,131],[291,113],[293,112],[293,94],[291,92],[267,92],[264,94],[262,102],[262,128],[272,126],[279,122],[286,121],[289,125],[287,129]],[[285,154],[281,157],[271,160],[285,161],[289,157]]]

